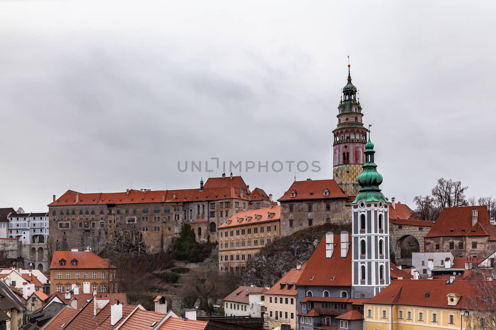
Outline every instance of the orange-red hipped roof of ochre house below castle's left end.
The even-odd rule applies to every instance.
[[[61,266],[60,261],[65,260],[65,266]],[[72,259],[77,260],[77,265],[72,265]],[[50,264],[50,269],[94,269],[108,268],[108,262],[91,251],[55,251]]]

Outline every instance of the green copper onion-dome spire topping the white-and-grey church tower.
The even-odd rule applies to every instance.
[[[386,197],[380,192],[379,186],[382,183],[382,175],[377,172],[377,164],[373,162],[375,150],[371,141],[371,130],[369,125],[369,141],[365,144],[365,164],[363,172],[358,176],[358,184],[362,189],[353,203],[360,199],[365,202],[379,202],[381,199],[387,203]]]

